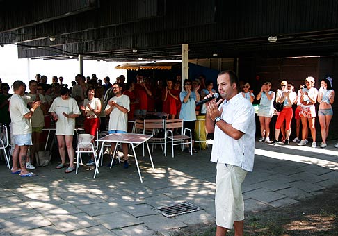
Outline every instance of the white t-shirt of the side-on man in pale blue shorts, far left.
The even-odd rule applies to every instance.
[[[32,133],[31,119],[24,118],[29,113],[27,103],[22,96],[13,94],[10,98],[10,119],[13,135],[26,135]]]

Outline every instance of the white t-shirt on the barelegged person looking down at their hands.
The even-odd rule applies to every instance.
[[[63,100],[61,96],[58,96],[54,99],[53,103],[51,103],[51,108],[49,108],[48,112],[55,112],[58,116],[58,121],[56,121],[55,124],[56,135],[74,135],[75,118],[67,118],[62,113],[65,112],[68,115],[81,114],[75,99],[69,98]]]

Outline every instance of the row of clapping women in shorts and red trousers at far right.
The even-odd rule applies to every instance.
[[[261,137],[258,142],[267,142],[268,144],[284,143],[289,144],[291,134],[291,121],[296,119],[296,137],[293,142],[300,146],[306,145],[309,141],[308,130],[312,137],[313,148],[316,148],[316,127],[315,119],[318,117],[321,127],[321,148],[328,146],[326,139],[328,137],[330,121],[333,116],[332,104],[335,99],[335,91],[332,90],[332,78],[325,77],[321,80],[319,90],[314,87],[314,77],[305,78],[305,85],[300,85],[298,92],[294,91],[292,82],[282,81],[280,89],[277,92],[271,91],[271,83],[266,82],[261,86],[261,91],[257,94],[259,100],[258,117],[260,123]],[[318,112],[315,104],[319,103]],[[293,116],[293,104],[297,106]],[[273,115],[277,115],[275,122],[275,135],[270,140],[270,122]],[[302,128],[300,129],[300,126]],[[301,135],[300,135],[301,131]],[[280,139],[282,133],[282,139]],[[338,148],[338,144],[335,144]]]

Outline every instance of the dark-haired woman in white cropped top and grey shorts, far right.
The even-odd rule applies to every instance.
[[[330,121],[333,117],[332,103],[335,101],[335,91],[332,90],[332,78],[323,78],[321,80],[321,88],[318,91],[317,101],[319,102],[318,118],[321,124],[321,148],[328,146],[326,138]]]

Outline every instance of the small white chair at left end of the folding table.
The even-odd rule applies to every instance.
[[[95,160],[95,167],[99,165],[97,160],[97,149],[98,149],[98,139],[99,139],[99,133],[96,132],[96,142],[92,142],[94,139],[93,135],[90,135],[88,133],[81,133],[78,135],[78,143],[77,143],[77,167],[75,173],[77,174],[77,171],[79,169],[80,159],[82,153],[92,153]],[[95,168],[95,172],[97,170],[97,173],[99,172],[98,168]],[[95,173],[94,173],[95,174]]]

